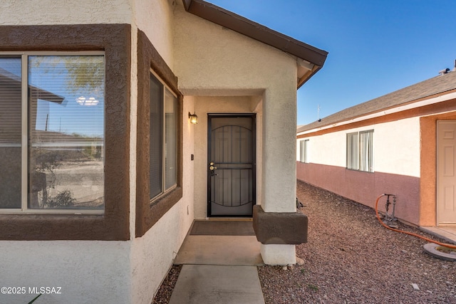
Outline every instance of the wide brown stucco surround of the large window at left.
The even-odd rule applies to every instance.
[[[0,26],[0,51],[105,51],[105,213],[0,214],[1,240],[128,240],[128,24]]]

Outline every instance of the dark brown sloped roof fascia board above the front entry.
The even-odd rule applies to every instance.
[[[182,1],[185,10],[191,14],[216,23],[219,26],[229,28],[232,31],[237,31],[242,35],[261,41],[262,43],[266,43],[269,46],[273,46],[281,51],[302,58],[319,67],[323,66],[323,63],[328,56],[328,52],[326,51],[271,30],[271,28],[262,26],[259,23],[222,9],[214,4],[209,4],[202,0]],[[314,73],[311,73],[311,75],[314,75]]]

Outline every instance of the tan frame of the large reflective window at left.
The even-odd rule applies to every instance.
[[[33,209],[28,206],[28,163],[30,155],[28,153],[29,141],[31,135],[28,134],[28,57],[29,56],[103,56],[104,69],[106,70],[105,52],[104,51],[0,51],[0,58],[21,58],[21,208],[1,209],[0,214],[104,214],[103,209]],[[106,74],[106,72],[105,72]],[[104,75],[105,77],[105,75]],[[105,88],[104,88],[105,90]],[[103,119],[106,111],[103,108]],[[103,125],[103,143],[105,142],[105,125]],[[103,155],[105,155],[105,145],[103,145]],[[103,171],[105,159],[103,157]],[[103,176],[103,184],[104,184]],[[104,186],[103,186],[104,188]],[[103,189],[103,200],[105,197]]]

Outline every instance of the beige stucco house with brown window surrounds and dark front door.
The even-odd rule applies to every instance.
[[[217,216],[295,263],[296,89],[325,51],[201,0],[7,1],[0,38],[0,285],[150,303]]]

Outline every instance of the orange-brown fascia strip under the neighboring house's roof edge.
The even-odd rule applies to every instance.
[[[343,130],[350,130],[356,127],[366,127],[370,125],[376,125],[379,123],[392,122],[395,120],[403,120],[405,118],[411,117],[420,117],[425,115],[433,115],[439,112],[447,112],[456,110],[456,99],[447,100],[441,103],[433,103],[432,105],[425,105],[420,108],[413,108],[410,110],[404,110],[400,112],[395,112],[388,115],[383,115],[380,117],[371,118],[368,120],[361,120],[358,122],[349,123],[346,125],[339,125],[336,127],[330,127],[325,130],[319,130],[315,132],[309,132],[304,135],[297,135],[296,138],[306,138],[311,136],[325,135],[332,132],[339,132]]]

